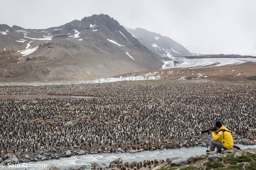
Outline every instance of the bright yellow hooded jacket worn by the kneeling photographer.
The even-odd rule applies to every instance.
[[[234,145],[234,141],[233,141],[233,137],[231,135],[230,132],[223,132],[220,130],[228,130],[224,125],[222,125],[221,128],[219,128],[218,130],[216,130],[216,132],[218,132],[218,134],[216,135],[214,132],[211,132],[211,134],[213,135],[213,140],[214,141],[218,141],[220,140],[221,143],[223,143],[223,146],[225,146],[227,149],[230,149],[233,147]]]

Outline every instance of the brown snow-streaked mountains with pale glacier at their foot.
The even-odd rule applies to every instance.
[[[182,78],[179,74],[162,76],[159,69],[255,62],[252,56],[190,53],[164,35],[142,28],[126,29],[105,14],[46,29],[0,24],[0,80],[85,82],[103,78],[112,81],[105,78],[118,75],[122,75],[118,80],[138,80],[148,79],[147,76],[159,78],[158,73],[165,79],[179,79]]]

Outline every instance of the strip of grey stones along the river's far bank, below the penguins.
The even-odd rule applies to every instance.
[[[248,136],[247,136],[248,135]],[[238,136],[236,134],[233,133],[233,138],[235,138],[236,140],[234,140],[234,144],[245,144],[245,145],[255,145],[256,140],[252,141],[249,138],[249,134],[246,134],[246,136]],[[201,139],[202,138],[202,139]],[[203,135],[199,135],[199,136],[194,136],[192,137],[193,141],[193,145],[194,147],[197,146],[208,146],[210,143],[211,135],[207,135],[207,134],[203,134]],[[148,141],[144,141],[146,144],[149,143]],[[144,143],[143,141],[139,141],[139,143]],[[78,146],[74,146],[74,147],[70,147],[70,148],[61,148],[61,147],[56,147],[55,148],[51,148],[51,149],[43,149],[40,151],[37,151],[36,153],[31,153],[31,152],[27,152],[27,153],[21,153],[21,152],[17,152],[16,154],[14,154],[13,152],[7,153],[7,154],[2,154],[0,157],[0,163],[8,163],[8,162],[14,162],[15,163],[28,163],[28,162],[37,162],[37,161],[44,161],[44,160],[51,160],[51,159],[61,159],[62,157],[70,157],[72,155],[87,155],[87,154],[100,154],[100,153],[124,153],[124,152],[129,152],[129,153],[135,153],[135,152],[140,152],[140,151],[144,151],[144,150],[157,150],[157,149],[176,149],[176,148],[181,148],[181,147],[193,147],[192,144],[188,144],[189,142],[187,140],[182,140],[180,142],[169,142],[169,141],[164,141],[165,145],[162,145],[163,147],[159,147],[160,145],[153,145],[149,148],[145,148],[142,149],[137,145],[128,145],[127,147],[103,147],[104,150],[100,149],[100,148],[96,148],[95,146],[92,148],[88,148],[86,150],[81,150]],[[173,144],[175,144],[173,146]],[[169,147],[169,145],[171,145],[171,147]],[[155,146],[155,147],[154,147]],[[206,148],[207,149],[207,148]]]

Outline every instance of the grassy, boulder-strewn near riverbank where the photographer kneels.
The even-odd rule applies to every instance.
[[[207,152],[203,155],[191,155],[188,158],[182,157],[172,157],[164,159],[154,159],[154,160],[144,160],[143,162],[125,162],[122,158],[117,158],[110,162],[109,166],[106,164],[99,165],[96,162],[91,163],[91,165],[79,165],[71,167],[67,170],[157,170],[157,169],[215,169],[215,168],[234,168],[243,169],[253,168],[256,163],[256,149],[250,148],[245,150],[237,150],[235,148],[223,150],[221,153],[216,154],[216,152]],[[249,160],[249,159],[250,160]],[[231,162],[232,160],[233,162]],[[247,160],[247,161],[246,161]],[[236,161],[238,163],[236,163]],[[236,164],[236,165],[234,165]],[[44,170],[60,170],[57,166],[49,166]]]

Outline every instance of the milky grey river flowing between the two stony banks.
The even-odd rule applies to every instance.
[[[241,145],[235,144],[236,146],[240,147],[241,149],[246,148],[256,148],[256,145]],[[154,160],[154,159],[164,159],[171,158],[174,156],[180,156],[183,158],[188,158],[191,155],[202,155],[206,154],[206,150],[209,149],[206,147],[182,147],[178,149],[162,149],[162,150],[155,150],[155,151],[142,151],[136,153],[101,153],[101,154],[88,154],[82,156],[71,156],[69,158],[60,158],[59,160],[45,160],[45,161],[38,161],[38,162],[30,162],[30,164],[42,164],[50,166],[55,165],[60,169],[69,169],[74,166],[80,167],[81,165],[87,165],[87,168],[91,169],[91,163],[96,162],[101,167],[108,167],[110,162],[117,159],[122,158],[124,162],[132,162],[132,161],[143,161],[143,160]],[[105,164],[105,165],[104,165]],[[25,164],[19,164],[20,167],[10,167],[5,165],[5,167],[1,167],[0,170],[36,170],[36,169],[44,169],[44,168],[36,168],[36,167],[26,167]],[[31,165],[30,165],[31,166]]]

